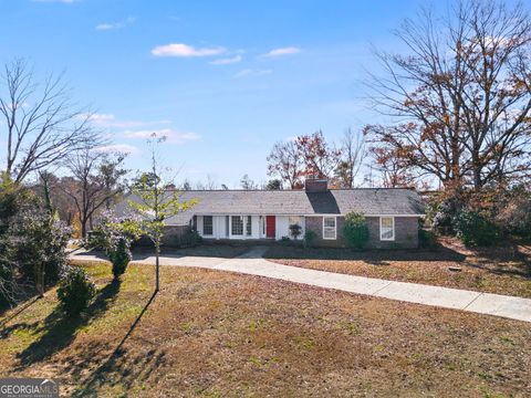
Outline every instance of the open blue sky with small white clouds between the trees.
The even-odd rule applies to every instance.
[[[169,139],[178,179],[267,180],[277,140],[330,139],[377,119],[365,98],[371,44],[421,1],[0,0],[0,62],[66,72],[80,104],[127,166],[148,165],[145,135]]]

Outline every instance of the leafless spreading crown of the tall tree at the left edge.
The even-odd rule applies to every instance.
[[[7,130],[0,130],[0,137],[7,148],[4,170],[14,181],[63,159],[87,140],[94,143],[90,115],[74,107],[63,75],[50,75],[39,84],[27,62],[15,60],[6,65],[1,81],[0,115]]]

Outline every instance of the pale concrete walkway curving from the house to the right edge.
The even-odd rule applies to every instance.
[[[238,272],[375,297],[398,300],[407,303],[462,310],[478,314],[531,322],[531,298],[479,293],[418,283],[385,281],[374,277],[282,265],[263,259],[262,255],[266,250],[267,248],[257,247],[233,259],[165,255],[160,258],[160,264]],[[87,261],[98,259],[94,254],[82,252],[74,252],[71,254],[71,258]],[[155,258],[145,256],[135,259],[134,263],[155,264]]]

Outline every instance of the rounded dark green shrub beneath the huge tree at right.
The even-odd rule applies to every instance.
[[[457,238],[467,247],[489,247],[501,238],[499,227],[480,212],[464,208],[454,218]]]

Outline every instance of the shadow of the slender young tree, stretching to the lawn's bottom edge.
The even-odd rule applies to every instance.
[[[153,293],[149,301],[138,314],[135,322],[131,325],[114,352],[108,356],[105,363],[98,366],[97,369],[82,381],[82,387],[72,394],[73,397],[95,397],[97,396],[97,388],[102,385],[111,387],[119,385],[125,390],[128,390],[133,383],[147,379],[154,370],[164,365],[164,353],[157,352],[154,348],[146,349],[145,353],[133,357],[126,355],[127,350],[124,349],[125,342],[135,331],[155,296],[156,293]],[[142,346],[145,346],[146,344],[150,343],[143,342]],[[93,353],[94,350],[88,348],[86,350],[87,358],[91,358]],[[82,360],[82,363],[85,362]]]

